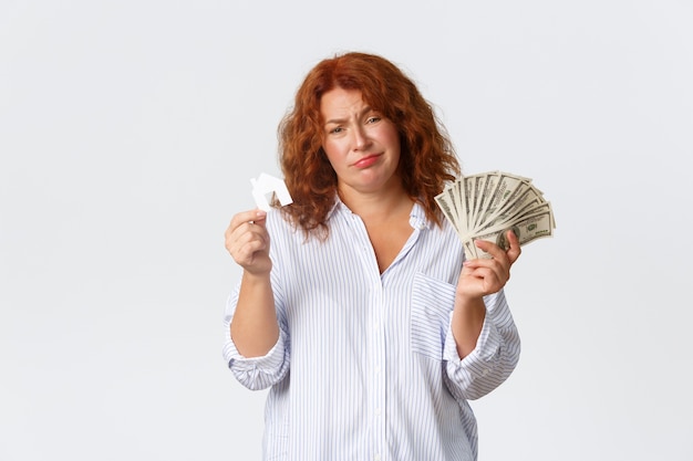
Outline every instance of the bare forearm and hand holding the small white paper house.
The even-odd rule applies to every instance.
[[[266,355],[279,338],[266,217],[261,210],[240,212],[234,216],[225,233],[226,249],[244,269],[230,333],[245,357]]]

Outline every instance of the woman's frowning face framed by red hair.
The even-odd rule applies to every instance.
[[[394,124],[373,111],[361,92],[337,87],[322,95],[322,148],[340,189],[379,192],[400,187],[400,135]]]

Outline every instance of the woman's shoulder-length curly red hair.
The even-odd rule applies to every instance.
[[[327,237],[327,217],[337,198],[337,174],[322,149],[320,99],[330,90],[358,90],[400,134],[399,174],[408,196],[441,224],[435,196],[461,172],[447,132],[416,85],[392,62],[351,52],[325,59],[306,76],[294,105],[279,124],[279,164],[293,203],[285,216],[306,233]]]

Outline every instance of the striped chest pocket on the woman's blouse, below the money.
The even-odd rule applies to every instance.
[[[412,352],[436,360],[443,359],[454,305],[454,285],[422,273],[414,276],[410,319]]]

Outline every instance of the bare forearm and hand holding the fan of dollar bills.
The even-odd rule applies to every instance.
[[[486,317],[484,296],[503,289],[510,279],[510,266],[520,255],[520,247],[513,231],[507,232],[510,248],[503,251],[498,245],[477,240],[476,245],[489,253],[492,259],[464,262],[457,281],[452,331],[459,358],[474,350]]]

